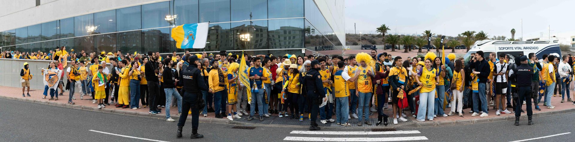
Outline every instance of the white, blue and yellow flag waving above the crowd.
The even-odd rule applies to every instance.
[[[172,38],[179,49],[205,48],[208,39],[208,22],[176,26],[172,29]]]

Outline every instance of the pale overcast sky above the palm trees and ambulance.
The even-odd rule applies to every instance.
[[[390,26],[388,33],[432,33],[456,36],[467,30],[485,31],[489,37],[505,35],[551,36],[569,39],[575,35],[575,1],[376,1],[346,0],[346,33],[375,31],[379,25]]]

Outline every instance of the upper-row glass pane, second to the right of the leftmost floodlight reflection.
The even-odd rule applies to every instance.
[[[117,31],[141,29],[140,6],[116,9],[116,21]]]

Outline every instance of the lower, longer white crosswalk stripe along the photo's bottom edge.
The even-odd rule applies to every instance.
[[[425,136],[417,137],[285,137],[292,141],[407,141],[428,140]]]

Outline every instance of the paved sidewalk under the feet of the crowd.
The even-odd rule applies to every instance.
[[[96,104],[91,103],[91,97],[90,96],[85,96],[84,97],[85,100],[79,100],[79,98],[80,98],[79,93],[75,93],[74,97],[76,98],[76,100],[72,100],[76,104],[70,105],[70,104],[67,104],[68,93],[69,93],[68,91],[64,92],[63,96],[59,96],[59,100],[54,101],[54,100],[48,100],[49,95],[45,99],[41,98],[41,97],[43,97],[43,94],[42,94],[43,90],[30,90],[31,97],[27,97],[27,96],[22,97],[22,92],[21,92],[22,88],[0,86],[0,90],[2,90],[2,92],[0,92],[0,98],[25,101],[25,103],[33,102],[33,103],[38,103],[38,104],[54,105],[54,106],[58,106],[58,107],[83,109],[83,110],[87,110],[87,111],[115,113],[118,115],[150,117],[150,118],[154,118],[154,119],[161,119],[162,121],[165,121],[165,117],[166,117],[166,115],[165,115],[166,108],[162,108],[162,113],[158,113],[157,115],[152,115],[152,114],[148,113],[148,111],[149,111],[148,108],[140,108],[140,109],[126,108],[126,109],[122,109],[122,108],[116,108],[113,105],[109,105],[109,106],[106,106],[106,108],[98,109],[98,108],[96,108]],[[571,91],[571,94],[573,94],[573,93],[575,93],[575,92]],[[534,119],[535,122],[541,121],[540,117],[575,112],[575,105],[572,105],[573,104],[572,102],[561,103],[561,97],[559,97],[558,95],[557,95],[557,97],[551,97],[551,104],[553,104],[555,106],[555,109],[547,109],[547,107],[544,107],[541,103],[541,104],[539,104],[540,108],[542,109],[541,111],[533,110],[534,117],[536,118],[536,119]],[[391,105],[389,107],[391,107]],[[493,108],[493,107],[489,107],[489,108]],[[525,110],[526,107],[524,106],[523,109]],[[446,108],[446,110],[445,110],[446,114],[450,110],[451,110],[451,108]],[[512,109],[508,109],[508,110],[512,111]],[[177,108],[170,108],[170,111],[171,111],[170,114],[171,114],[172,119],[178,120],[179,119],[179,116],[177,116],[178,109]],[[515,120],[514,114],[501,114],[500,116],[496,116],[495,111],[493,109],[489,110],[489,116],[487,116],[487,117],[479,117],[479,116],[471,117],[471,114],[468,113],[469,111],[470,111],[470,108],[463,110],[463,112],[465,112],[465,114],[463,115],[464,117],[459,117],[457,115],[448,116],[448,117],[438,116],[434,119],[434,121],[424,121],[424,122],[415,121],[415,118],[412,117],[411,113],[407,112],[407,115],[408,115],[408,117],[406,118],[406,119],[408,119],[407,122],[399,122],[398,125],[393,125],[393,120],[390,117],[389,118],[389,120],[390,120],[389,126],[386,128],[435,127],[435,126],[446,126],[446,125],[466,125],[466,124],[489,123],[489,122],[494,122],[494,121]],[[384,113],[389,115],[393,112],[385,111]],[[527,118],[526,113],[522,113],[521,115],[522,115],[522,119]],[[257,116],[258,115],[256,114],[256,117]],[[217,119],[214,117],[214,113],[208,113],[208,117],[203,117],[202,115],[200,115],[200,122],[220,123],[220,124],[236,124],[236,125],[265,125],[265,126],[274,126],[274,127],[301,127],[301,128],[305,128],[305,127],[308,127],[309,120],[307,119],[307,116],[304,116],[304,117],[305,117],[304,121],[298,121],[298,119],[289,119],[287,117],[279,118],[277,115],[274,114],[270,118],[264,117],[264,121],[259,121],[258,119],[247,121],[246,120],[247,116],[243,116],[242,119],[235,119],[235,121],[229,121],[225,117],[223,119]],[[332,116],[332,118],[335,119],[335,116]],[[319,119],[319,116],[318,116],[318,119]],[[187,121],[191,121],[191,117],[188,117]],[[357,128],[357,125],[356,125],[356,122],[358,121],[357,119],[351,119],[349,121],[350,121],[350,123],[352,123],[352,127]],[[363,127],[375,127],[375,123],[377,122],[377,113],[373,116],[370,116],[370,121],[374,125],[370,126],[370,125],[364,124]],[[335,123],[321,124],[318,122],[318,124],[320,124],[320,127],[350,128],[350,127],[343,127],[342,125],[336,125]],[[512,125],[512,123],[509,122],[509,125]]]

